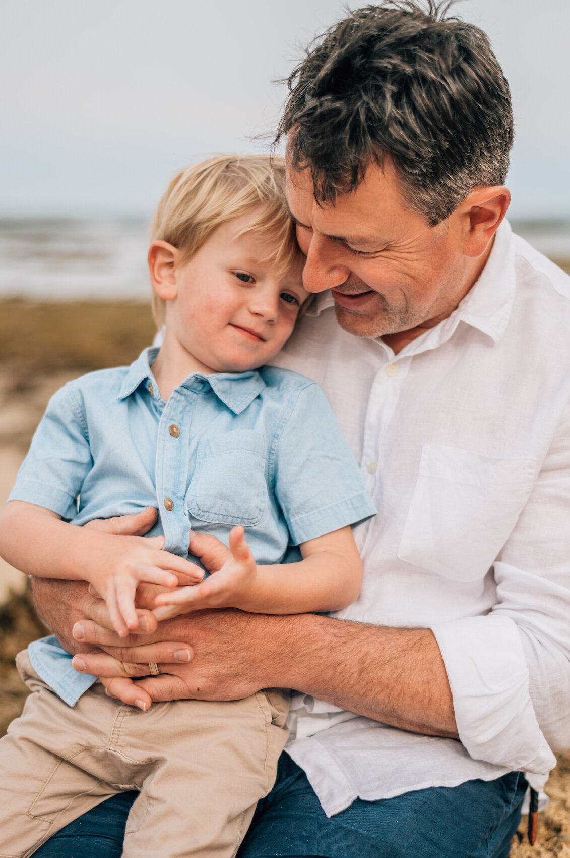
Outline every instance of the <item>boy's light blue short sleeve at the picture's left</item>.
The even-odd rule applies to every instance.
[[[70,521],[92,466],[85,416],[66,385],[51,397],[8,500],[43,506]]]

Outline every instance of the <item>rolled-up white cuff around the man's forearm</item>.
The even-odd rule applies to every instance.
[[[432,626],[447,670],[459,739],[473,759],[525,771],[541,789],[556,759],[538,726],[517,625],[507,617]]]

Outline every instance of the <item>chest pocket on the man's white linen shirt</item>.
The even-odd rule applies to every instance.
[[[534,459],[426,444],[399,559],[455,581],[484,577],[525,506],[534,469]]]

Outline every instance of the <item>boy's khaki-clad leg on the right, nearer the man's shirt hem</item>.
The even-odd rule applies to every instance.
[[[245,700],[153,704],[137,717],[156,769],[131,807],[123,858],[236,855],[257,801],[273,787],[287,708],[287,696],[270,690]]]

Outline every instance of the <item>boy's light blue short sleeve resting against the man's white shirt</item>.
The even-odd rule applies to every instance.
[[[316,384],[300,390],[279,434],[274,485],[295,545],[375,515],[357,462]]]

